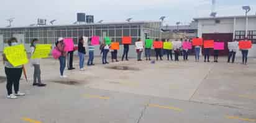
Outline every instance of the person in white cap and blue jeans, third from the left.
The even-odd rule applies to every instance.
[[[63,38],[58,38],[58,41],[55,43],[58,51],[62,54],[58,59],[60,61],[60,77],[66,78],[66,75],[64,75],[64,70],[66,67],[66,51],[64,50],[65,44],[64,44]]]

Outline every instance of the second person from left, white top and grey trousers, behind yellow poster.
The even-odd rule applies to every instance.
[[[36,45],[39,42],[37,38],[31,41],[30,53],[31,56],[35,53]],[[32,66],[34,66],[34,81],[33,86],[45,87],[46,84],[41,82],[40,59],[30,59]]]

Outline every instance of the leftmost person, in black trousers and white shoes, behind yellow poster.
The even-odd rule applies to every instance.
[[[17,39],[11,38],[7,41],[7,44],[9,47],[16,46],[17,45]],[[17,54],[19,55],[19,54]],[[19,80],[21,79],[22,74],[22,66],[13,66],[11,62],[7,59],[7,54],[2,54],[3,60],[4,60],[4,69],[6,73],[7,83],[6,83],[6,89],[7,89],[7,98],[9,99],[16,99],[17,96],[24,96],[25,93],[21,93],[19,91]],[[14,94],[12,93],[12,85],[14,85]]]

